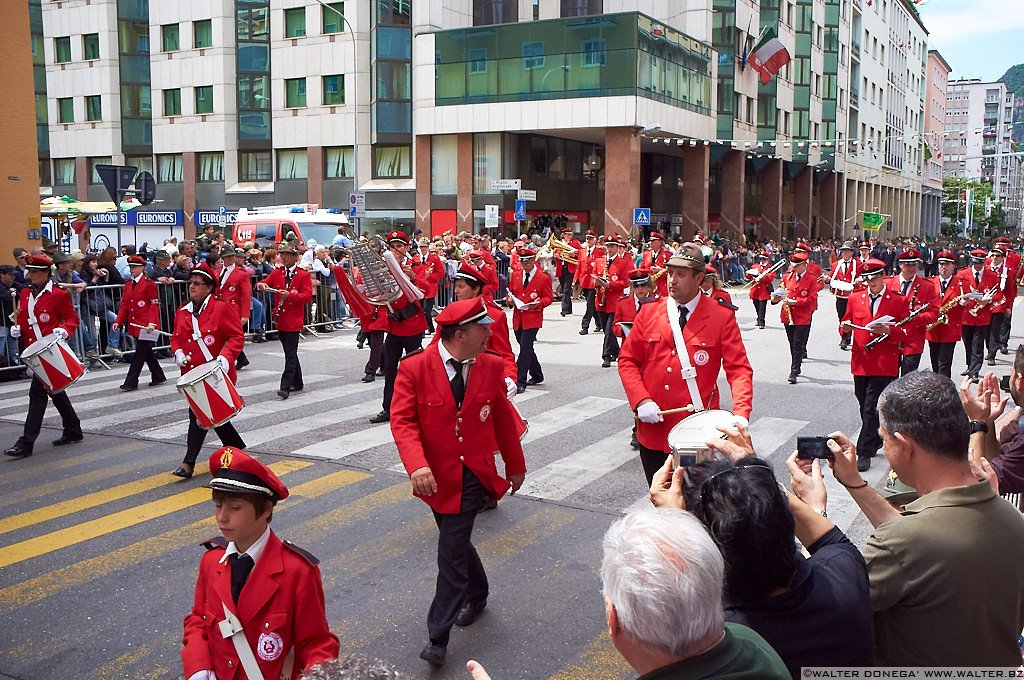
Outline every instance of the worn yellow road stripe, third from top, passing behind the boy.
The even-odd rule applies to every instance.
[[[278,511],[288,510],[296,505],[300,505],[307,498],[311,497],[313,495],[312,492],[317,488],[325,488],[326,485],[330,485],[331,488],[340,488],[356,481],[361,481],[369,476],[369,474],[364,472],[341,470],[340,472],[334,472],[318,479],[298,484],[290,490],[291,496],[282,503],[281,509]],[[207,490],[207,493],[209,493],[209,490]],[[338,509],[342,510],[344,506]],[[118,548],[109,553],[54,569],[0,590],[0,606],[24,606],[38,602],[56,595],[65,589],[102,579],[119,569],[133,567],[138,563],[139,555],[145,555],[147,559],[154,559],[177,550],[183,545],[198,544],[200,541],[213,536],[216,530],[212,518],[207,517],[171,529],[170,532],[165,532],[158,536]]]

